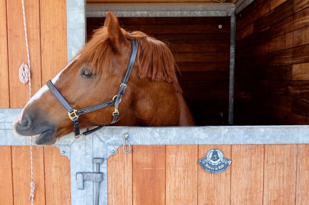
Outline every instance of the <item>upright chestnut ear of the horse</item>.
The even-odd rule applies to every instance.
[[[117,50],[121,50],[121,45],[125,43],[126,39],[123,35],[121,28],[119,26],[118,19],[116,15],[108,11],[106,13],[106,19],[104,22],[104,27],[107,27],[108,30],[108,38],[111,40],[112,46]]]

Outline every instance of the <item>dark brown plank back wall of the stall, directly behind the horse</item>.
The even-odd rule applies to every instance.
[[[87,37],[105,18],[87,18]],[[128,31],[142,31],[169,42],[180,85],[197,125],[215,125],[228,113],[230,18],[119,18]],[[219,29],[218,26],[222,25]]]

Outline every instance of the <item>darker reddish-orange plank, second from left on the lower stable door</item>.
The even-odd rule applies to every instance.
[[[133,204],[165,203],[165,146],[134,146]]]

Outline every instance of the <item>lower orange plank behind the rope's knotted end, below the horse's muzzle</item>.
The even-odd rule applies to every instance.
[[[30,204],[30,147],[12,146],[12,173],[14,204]],[[33,146],[33,179],[36,185],[35,204],[45,204],[44,150],[43,146]]]

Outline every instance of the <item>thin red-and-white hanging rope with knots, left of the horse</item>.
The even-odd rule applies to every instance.
[[[20,68],[19,68],[19,80],[23,84],[28,82],[28,84],[29,84],[29,100],[30,100],[31,99],[30,53],[29,53],[29,45],[28,45],[28,35],[27,35],[26,14],[25,14],[24,0],[22,0],[21,2],[22,2],[22,5],[23,5],[23,27],[24,27],[24,31],[25,31],[28,65],[23,63],[20,66]],[[33,205],[34,190],[36,188],[36,185],[33,183],[32,136],[30,136],[30,170],[31,170],[31,182],[30,182],[30,196],[29,196],[29,200],[31,201],[31,204]]]

